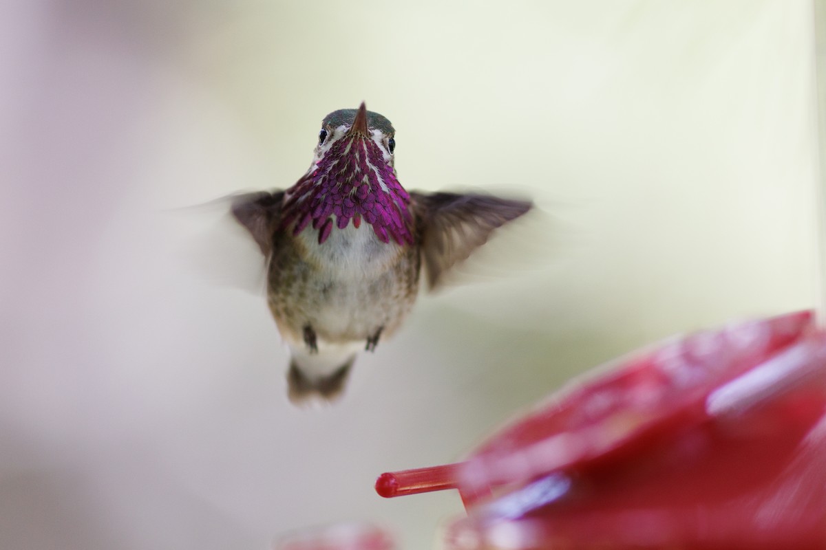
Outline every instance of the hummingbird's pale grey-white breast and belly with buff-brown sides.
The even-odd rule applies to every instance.
[[[268,303],[292,346],[312,327],[325,345],[392,335],[418,292],[416,247],[382,242],[367,224],[335,229],[323,243],[315,232],[283,232],[268,270]]]

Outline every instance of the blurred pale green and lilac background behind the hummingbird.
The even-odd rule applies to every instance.
[[[4,2],[0,548],[270,548],[345,519],[432,548],[458,496],[384,501],[378,473],[459,458],[635,347],[811,307],[811,12]],[[299,410],[263,299],[185,261],[215,220],[173,209],[292,185],[362,100],[403,185],[542,212]]]

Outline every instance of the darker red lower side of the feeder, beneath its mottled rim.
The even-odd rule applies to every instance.
[[[824,405],[800,388],[615,463],[539,478],[472,508],[450,548],[826,548]]]

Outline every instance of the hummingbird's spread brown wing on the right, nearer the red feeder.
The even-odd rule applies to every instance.
[[[431,290],[442,275],[487,242],[494,229],[525,214],[529,200],[490,195],[411,193],[421,240],[427,282]]]

